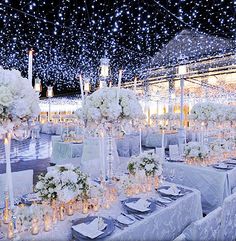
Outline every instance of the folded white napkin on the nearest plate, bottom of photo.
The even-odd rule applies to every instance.
[[[76,232],[78,232],[86,237],[89,237],[91,239],[94,239],[94,238],[97,238],[98,236],[100,236],[101,234],[103,234],[103,232],[101,230],[103,230],[107,226],[107,224],[105,224],[103,222],[102,227],[99,227],[98,223],[99,223],[99,219],[95,218],[89,224],[80,223],[75,226],[72,226],[72,228]]]

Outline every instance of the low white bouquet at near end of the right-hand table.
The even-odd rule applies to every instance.
[[[184,156],[190,163],[204,164],[209,155],[208,146],[200,142],[188,142],[184,147]]]

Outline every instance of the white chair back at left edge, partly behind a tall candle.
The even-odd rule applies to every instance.
[[[33,170],[12,172],[12,183],[14,198],[19,198],[24,194],[33,192]],[[4,196],[6,190],[6,173],[0,174],[0,207],[4,206]]]

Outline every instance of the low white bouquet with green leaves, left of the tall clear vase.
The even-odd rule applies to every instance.
[[[46,200],[69,202],[89,191],[88,177],[73,165],[55,166],[46,175],[40,175],[35,192]]]

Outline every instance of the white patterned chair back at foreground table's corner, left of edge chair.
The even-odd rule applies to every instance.
[[[190,224],[183,234],[187,241],[217,241],[220,234],[222,208],[218,207],[204,218]]]

